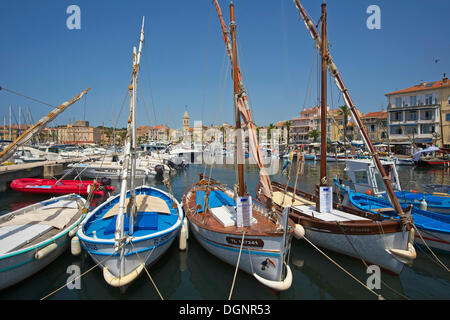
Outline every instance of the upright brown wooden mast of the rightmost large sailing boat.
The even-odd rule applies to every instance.
[[[326,4],[322,3],[322,71],[320,86],[320,186],[328,185],[327,178],[327,13]],[[317,197],[316,210],[320,211],[320,199]]]

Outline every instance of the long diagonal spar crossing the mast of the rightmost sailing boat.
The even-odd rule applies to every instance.
[[[309,17],[307,16],[305,10],[303,9],[303,7],[300,4],[299,0],[294,0],[294,4],[297,7],[297,9],[299,10],[304,22],[305,22],[305,26],[306,28],[309,30],[311,37],[313,38],[316,47],[318,49],[321,48],[322,44],[321,44],[321,39],[319,34],[317,33],[313,22],[309,19]],[[386,186],[386,190],[387,190],[387,196],[388,199],[391,203],[391,205],[394,207],[394,209],[397,211],[398,215],[401,217],[404,217],[405,214],[403,212],[403,209],[400,205],[400,202],[398,201],[397,196],[395,195],[394,189],[392,188],[392,184],[391,181],[389,180],[388,176],[386,175],[386,171],[384,170],[383,165],[381,164],[380,158],[378,156],[378,153],[376,152],[373,144],[371,143],[370,139],[369,139],[369,135],[367,133],[367,130],[365,129],[362,120],[356,110],[356,107],[350,97],[350,94],[348,92],[348,89],[346,88],[344,81],[342,80],[342,77],[339,73],[339,71],[337,70],[336,65],[334,64],[331,56],[328,54],[327,55],[327,60],[328,60],[328,71],[330,72],[330,75],[332,77],[334,77],[336,85],[339,89],[339,91],[342,92],[342,95],[344,97],[344,101],[345,104],[349,107],[353,118],[356,121],[356,124],[358,126],[358,129],[360,130],[361,134],[362,134],[362,138],[363,141],[366,145],[366,147],[369,149],[370,151],[370,155],[373,158],[373,161],[378,169],[378,171],[380,172],[381,177],[383,178],[383,182]]]

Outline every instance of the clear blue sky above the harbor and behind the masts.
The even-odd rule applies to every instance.
[[[229,23],[229,1],[219,3]],[[322,1],[301,3],[317,21]],[[66,27],[71,4],[81,9],[81,30]],[[297,9],[291,0],[234,4],[241,69],[256,123],[297,117],[317,98],[316,87],[307,94],[315,52]],[[366,27],[372,4],[381,9],[380,30]],[[450,74],[450,1],[330,0],[327,5],[331,55],[361,112],[386,106],[387,92]],[[0,86],[52,105],[91,87],[86,100],[52,125],[85,118],[92,125],[114,126],[143,15],[138,125],[179,128],[186,105],[191,126],[194,120],[230,123],[232,81],[223,67],[225,46],[209,0],[0,0]],[[330,105],[337,108],[342,99],[336,87],[329,92]],[[51,110],[0,91],[0,124],[3,117],[8,121],[10,104],[13,122],[19,105],[31,110],[34,121]],[[118,127],[125,126],[127,105]]]

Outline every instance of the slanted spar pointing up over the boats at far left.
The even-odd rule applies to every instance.
[[[1,90],[1,87],[0,87]],[[50,112],[48,115],[43,117],[41,120],[36,122],[33,126],[28,128],[23,134],[21,134],[17,139],[15,139],[8,147],[6,147],[5,150],[0,152],[0,162],[6,161],[13,153],[14,151],[20,147],[21,145],[25,144],[28,140],[33,137],[36,133],[41,131],[47,123],[52,121],[54,118],[56,118],[60,113],[62,113],[64,110],[66,110],[69,106],[80,100],[88,91],[90,88],[84,90],[79,95],[77,95],[75,98],[73,98],[70,101],[64,102],[59,107],[55,108]],[[11,123],[11,122],[10,122]],[[11,124],[9,126],[9,129],[11,130]],[[11,132],[11,131],[10,131]],[[10,133],[11,136],[11,133]]]

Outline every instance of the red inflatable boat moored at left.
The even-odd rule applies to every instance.
[[[11,189],[19,192],[34,194],[69,194],[88,195],[88,186],[92,185],[92,180],[56,180],[56,179],[16,179],[11,182]],[[97,189],[94,195],[102,196],[105,191],[112,192],[114,187],[108,179],[97,182]]]

